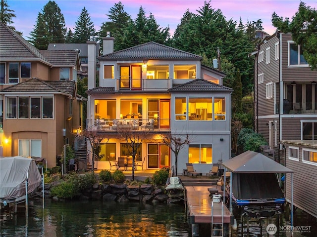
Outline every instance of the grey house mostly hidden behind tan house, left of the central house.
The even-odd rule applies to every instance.
[[[80,79],[88,76],[88,44],[87,43],[49,43],[48,50],[77,50],[81,63],[81,70],[77,72]],[[96,55],[100,56],[100,45],[97,43]],[[97,63],[97,71],[99,64]]]

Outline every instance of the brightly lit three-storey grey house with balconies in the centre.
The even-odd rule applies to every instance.
[[[223,73],[201,65],[201,56],[156,42],[113,52],[113,38],[103,40],[109,53],[98,58],[100,86],[89,75],[87,91],[88,127],[109,139],[102,144],[104,161],[98,168],[131,155],[118,129],[147,133],[137,152],[144,169],[174,165],[174,154],[161,139],[168,133],[188,134],[191,141],[179,153],[178,174],[186,162],[197,172],[209,172],[212,163],[230,158],[233,90],[222,85]],[[91,42],[92,52],[95,45]]]

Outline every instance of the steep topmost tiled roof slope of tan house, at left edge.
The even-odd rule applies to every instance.
[[[0,23],[0,32],[1,61],[36,59],[51,65],[36,47],[3,23]]]

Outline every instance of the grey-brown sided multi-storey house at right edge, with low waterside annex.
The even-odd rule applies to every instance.
[[[316,215],[316,204],[306,202],[317,197],[317,71],[311,70],[291,34],[275,33],[252,55],[255,131],[264,135],[275,160],[295,171],[294,205]],[[286,141],[286,154],[281,141]]]

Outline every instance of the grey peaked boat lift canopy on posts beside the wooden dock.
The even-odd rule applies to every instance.
[[[226,160],[222,165],[232,173],[290,173],[291,174],[291,230],[293,233],[293,173],[294,171],[264,156],[261,153],[246,151]],[[226,170],[225,170],[226,171]],[[224,171],[224,172],[225,172]],[[224,177],[225,178],[225,177]],[[225,181],[224,181],[225,183]],[[225,189],[223,189],[225,192]],[[232,213],[232,178],[230,177],[230,212]]]

